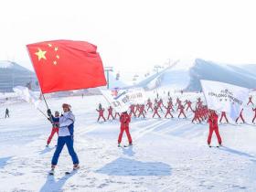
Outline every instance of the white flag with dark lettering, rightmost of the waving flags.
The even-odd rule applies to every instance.
[[[233,120],[240,115],[242,105],[249,97],[249,89],[219,81],[200,81],[208,109],[228,112]]]

